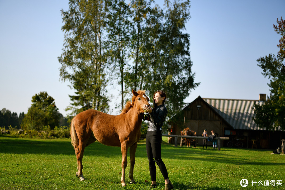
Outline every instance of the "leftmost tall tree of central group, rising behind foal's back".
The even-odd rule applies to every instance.
[[[86,109],[106,112],[109,109],[105,96],[105,55],[102,34],[105,26],[104,0],[70,0],[69,10],[61,10],[65,32],[60,79],[70,81],[76,95],[67,110],[77,114]]]

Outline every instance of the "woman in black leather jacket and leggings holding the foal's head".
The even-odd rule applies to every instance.
[[[168,113],[164,102],[166,94],[164,91],[157,91],[153,95],[154,106],[146,106],[144,120],[148,120],[148,128],[146,132],[146,153],[149,163],[149,172],[151,178],[150,188],[156,187],[156,166],[159,167],[165,181],[165,190],[173,189],[173,185],[168,179],[167,169],[161,159],[161,131],[162,125]]]

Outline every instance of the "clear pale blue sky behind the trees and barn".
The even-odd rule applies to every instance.
[[[73,90],[68,82],[59,81],[57,57],[64,40],[60,10],[68,10],[68,2],[0,0],[0,110],[27,113],[32,96],[46,91],[66,116]],[[163,1],[156,3],[163,5]],[[186,32],[195,82],[201,84],[185,102],[199,95],[253,100],[260,93],[268,95],[269,79],[256,60],[277,54],[281,36],[273,24],[285,18],[284,10],[284,0],[191,1]],[[115,97],[119,93],[113,86],[108,89]],[[111,107],[109,113],[116,111]]]

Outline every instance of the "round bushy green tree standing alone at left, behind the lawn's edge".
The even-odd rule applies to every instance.
[[[58,126],[58,108],[54,99],[47,92],[40,92],[32,97],[32,105],[25,115],[21,128],[42,130],[44,126],[54,129]]]

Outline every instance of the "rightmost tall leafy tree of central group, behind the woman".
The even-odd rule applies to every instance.
[[[184,107],[184,99],[194,83],[190,59],[190,35],[185,24],[190,19],[190,1],[165,1],[165,10],[152,9],[147,23],[149,37],[145,41],[145,60],[148,70],[144,73],[144,89],[149,92],[164,90],[167,94],[168,117]]]

